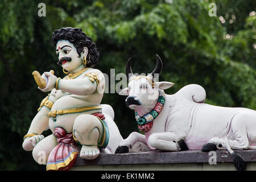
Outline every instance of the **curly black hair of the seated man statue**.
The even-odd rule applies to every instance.
[[[81,56],[81,52],[84,47],[88,48],[88,54],[86,56],[86,66],[94,67],[100,59],[100,52],[96,47],[96,43],[93,42],[92,38],[86,36],[85,32],[81,28],[65,27],[55,30],[52,33],[52,44],[56,47],[59,40],[68,40],[72,43],[76,51]]]

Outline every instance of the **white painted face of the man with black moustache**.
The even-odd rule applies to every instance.
[[[59,64],[67,71],[73,71],[82,64],[75,46],[68,40],[59,40],[56,44],[56,53],[59,56]]]

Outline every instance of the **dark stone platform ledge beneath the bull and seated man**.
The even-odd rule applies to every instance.
[[[256,162],[256,150],[234,150],[242,156],[245,162]],[[77,156],[75,166],[122,165],[122,164],[198,164],[209,163],[209,152],[189,150],[181,152],[147,151],[125,154],[100,154],[94,160],[81,159]],[[217,163],[232,163],[228,151],[217,150]]]

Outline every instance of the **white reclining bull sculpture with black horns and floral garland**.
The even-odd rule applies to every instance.
[[[196,84],[167,95],[163,90],[174,84],[155,81],[162,68],[162,60],[156,55],[152,73],[134,76],[131,58],[127,61],[129,85],[119,94],[128,96],[126,105],[135,110],[135,119],[144,135],[131,133],[116,152],[128,152],[129,144],[138,140],[144,143],[143,150],[148,150],[146,146],[164,151],[229,150],[236,168],[245,169],[245,163],[232,149],[256,149],[256,111],[204,104],[205,90]]]

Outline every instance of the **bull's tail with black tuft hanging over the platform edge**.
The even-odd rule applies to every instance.
[[[226,148],[229,151],[229,154],[232,157],[234,166],[237,168],[238,171],[245,171],[246,169],[246,163],[245,161],[242,159],[240,154],[237,154],[236,152],[234,152],[230,146],[229,146],[229,140],[226,138]]]

